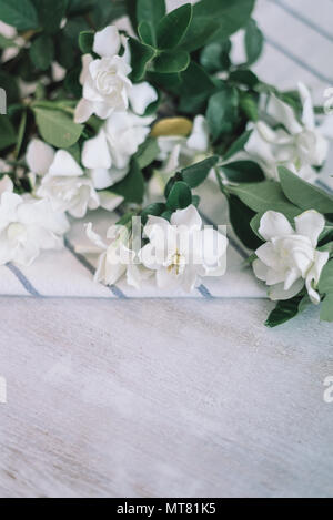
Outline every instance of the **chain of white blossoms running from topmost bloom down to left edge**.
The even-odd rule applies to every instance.
[[[121,49],[123,54],[119,55]],[[123,202],[109,188],[128,175],[131,157],[151,132],[155,116],[144,113],[158,101],[158,93],[147,82],[131,83],[130,50],[115,27],[95,34],[93,51],[101,59],[83,57],[83,100],[75,120],[85,122],[97,114],[105,123],[95,137],[85,141],[81,157],[67,150],[56,151],[39,139],[30,142],[26,162],[33,195],[16,195],[8,177],[1,183],[6,192],[0,202],[1,264],[16,261],[27,265],[41,249],[60,247],[61,237],[69,230],[65,214],[83,218],[89,210],[113,211]],[[10,170],[4,166],[1,165],[2,173]],[[32,213],[33,226],[27,231],[27,218]]]

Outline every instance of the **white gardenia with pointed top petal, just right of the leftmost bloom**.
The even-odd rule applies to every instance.
[[[100,205],[91,179],[64,150],[56,153],[37,195],[50,201],[53,211],[69,212],[75,218],[82,218],[88,210],[97,210]]]

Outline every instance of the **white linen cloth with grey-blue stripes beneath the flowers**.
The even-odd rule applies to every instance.
[[[170,0],[170,7],[185,1]],[[194,2],[192,2],[194,3]],[[313,91],[315,102],[323,103],[325,89],[333,86],[333,0],[258,0],[254,18],[266,37],[265,51],[255,65],[255,72],[268,83],[281,89],[294,89],[299,81]],[[234,60],[243,61],[242,34],[234,37]],[[333,124],[333,121],[332,121]],[[333,150],[321,183],[333,188]],[[330,165],[332,170],[330,171]],[[226,204],[216,187],[208,183],[202,190],[202,217],[205,224],[225,224]],[[248,253],[228,228],[230,247],[228,274],[223,278],[205,278],[191,295],[157,289],[153,279],[141,290],[129,287],[124,281],[117,286],[94,284],[95,256],[83,255],[89,242],[83,223],[92,222],[97,231],[105,231],[117,222],[115,214],[103,211],[73,222],[60,252],[43,253],[30,267],[12,264],[0,267],[0,295],[31,297],[91,297],[91,298],[262,298],[265,288],[255,281],[246,266]]]

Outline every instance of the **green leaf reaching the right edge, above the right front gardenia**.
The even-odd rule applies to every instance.
[[[302,210],[319,213],[333,212],[333,196],[300,179],[286,167],[279,167],[282,190],[285,196]]]

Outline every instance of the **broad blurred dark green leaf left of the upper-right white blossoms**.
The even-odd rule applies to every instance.
[[[239,93],[233,86],[225,86],[209,101],[206,119],[211,134],[216,141],[231,133],[239,119]]]

